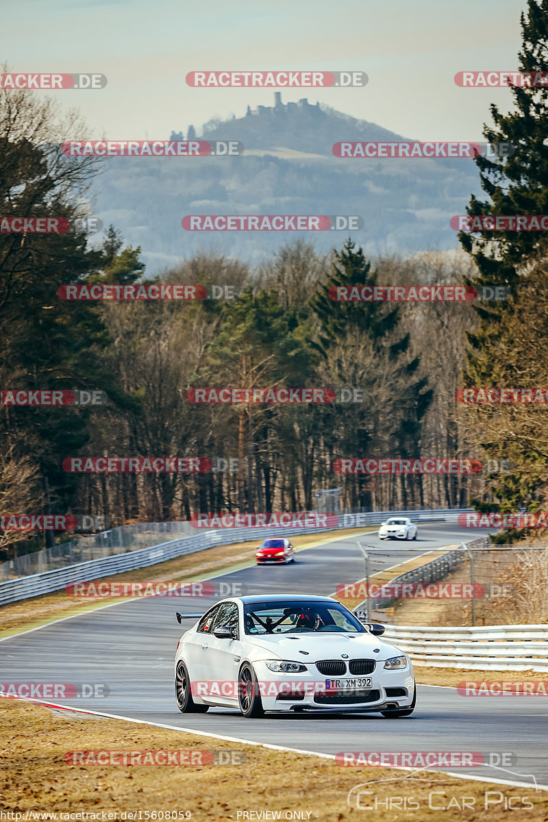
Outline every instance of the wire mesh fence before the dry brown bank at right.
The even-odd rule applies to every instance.
[[[373,573],[373,560],[391,552],[363,542],[366,584],[340,584],[338,593],[343,601],[360,600],[353,610],[365,621],[421,629],[548,623],[546,546],[490,545],[481,539],[434,551],[430,560],[424,549],[406,547],[408,559],[400,566]],[[401,555],[401,548],[394,550]]]

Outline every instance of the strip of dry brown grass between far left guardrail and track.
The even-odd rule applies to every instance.
[[[329,543],[332,539],[341,537],[357,536],[361,533],[375,531],[376,528],[348,529],[344,531],[329,531],[326,533],[303,533],[301,536],[292,537],[292,544],[298,550],[315,545]],[[205,575],[214,571],[223,570],[239,563],[246,564],[255,559],[256,548],[259,547],[260,540],[252,540],[248,543],[234,543],[233,545],[219,545],[214,548],[206,548],[194,554],[184,554],[177,556],[167,562],[159,562],[157,565],[138,570],[126,571],[123,574],[115,574],[101,577],[100,580],[113,582],[140,582],[147,580],[150,582],[181,582],[204,579]],[[268,571],[266,571],[268,572]],[[14,629],[21,627],[31,628],[44,622],[60,619],[61,617],[71,617],[73,614],[89,611],[90,608],[101,607],[105,603],[116,602],[116,599],[101,599],[99,603],[84,603],[76,598],[70,598],[65,591],[57,593],[47,593],[41,597],[25,599],[19,603],[12,603],[0,607],[0,639],[7,636]]]

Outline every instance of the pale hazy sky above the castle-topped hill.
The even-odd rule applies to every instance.
[[[37,91],[76,106],[90,139],[172,129],[272,105],[272,89],[196,89],[190,71],[363,71],[364,88],[282,90],[420,140],[476,141],[508,89],[462,89],[459,71],[512,71],[525,0],[0,0],[0,63],[97,72],[105,89]],[[343,135],[341,136],[343,139]]]

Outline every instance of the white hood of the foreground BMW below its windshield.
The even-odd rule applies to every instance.
[[[291,636],[260,635],[246,636],[246,644],[265,652],[265,659],[287,659],[288,662],[315,663],[319,659],[388,659],[400,656],[400,651],[389,642],[384,642],[371,634],[354,634],[353,639],[343,634],[311,636],[305,634]],[[308,653],[299,653],[308,651]]]

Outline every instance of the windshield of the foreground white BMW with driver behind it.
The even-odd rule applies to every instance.
[[[366,633],[342,605],[298,599],[248,603],[244,605],[244,625],[246,634]]]

